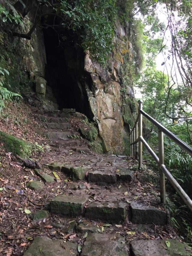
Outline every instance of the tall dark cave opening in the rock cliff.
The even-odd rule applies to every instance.
[[[82,48],[76,46],[75,35],[66,29],[62,31],[61,38],[52,27],[44,29],[43,32],[47,60],[46,98],[52,100],[51,96],[54,95],[60,110],[75,108],[77,112],[91,118],[85,91],[86,80],[90,78],[85,74],[85,55]],[[49,93],[49,88],[52,89],[52,93]]]

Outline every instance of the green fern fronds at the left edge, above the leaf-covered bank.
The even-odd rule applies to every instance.
[[[6,87],[4,87],[5,75],[9,76],[9,71],[0,67],[0,112],[2,112],[5,107],[5,101],[11,100],[13,97],[21,97],[20,94],[10,92]]]

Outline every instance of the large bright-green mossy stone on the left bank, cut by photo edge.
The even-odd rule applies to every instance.
[[[13,152],[22,158],[27,158],[31,155],[33,144],[30,142],[21,140],[3,131],[0,131],[0,141],[7,151]]]

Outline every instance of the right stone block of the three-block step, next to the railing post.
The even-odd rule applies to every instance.
[[[132,202],[131,215],[133,223],[167,224],[167,212],[154,207],[142,206]]]

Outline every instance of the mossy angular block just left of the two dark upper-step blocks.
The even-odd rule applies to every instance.
[[[73,167],[73,166],[63,166],[61,168],[61,171],[65,174],[67,174],[67,176],[70,179],[85,179],[85,175],[86,172],[91,170],[91,167]]]

